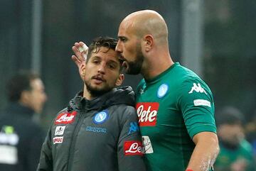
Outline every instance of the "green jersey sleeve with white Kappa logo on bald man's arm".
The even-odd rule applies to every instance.
[[[205,82],[198,77],[188,77],[179,89],[178,106],[191,138],[197,133],[216,133],[213,95]]]

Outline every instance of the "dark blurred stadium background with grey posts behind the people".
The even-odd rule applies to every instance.
[[[238,107],[247,121],[256,109],[256,1],[252,0],[1,0],[0,110],[5,84],[18,70],[41,74],[48,101],[40,118],[50,120],[82,87],[73,61],[75,41],[117,37],[128,13],[154,9],[169,26],[171,56],[206,80],[215,108]],[[136,87],[141,76],[126,77]]]

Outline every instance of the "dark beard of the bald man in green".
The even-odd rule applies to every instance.
[[[144,55],[142,54],[142,47],[141,45],[137,44],[137,58],[133,62],[128,62],[128,68],[126,73],[128,75],[139,75],[142,71],[142,63],[144,62]]]

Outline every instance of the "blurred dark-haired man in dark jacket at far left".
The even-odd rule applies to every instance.
[[[41,78],[19,72],[6,84],[9,106],[0,114],[0,170],[36,170],[43,129],[33,120],[47,100]]]

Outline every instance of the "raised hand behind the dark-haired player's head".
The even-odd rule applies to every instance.
[[[85,47],[87,46],[83,42],[76,42],[72,47],[72,50],[75,53],[75,55],[72,55],[71,58],[78,66],[78,71],[81,78],[83,78],[83,76],[85,75],[85,73],[82,72],[82,67],[85,67],[85,59],[88,53],[88,50],[85,49]]]

